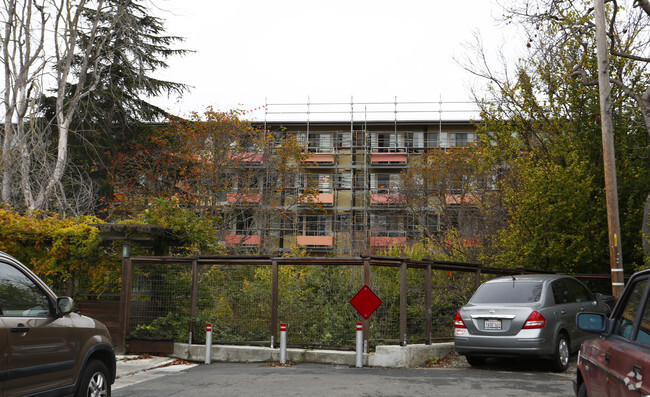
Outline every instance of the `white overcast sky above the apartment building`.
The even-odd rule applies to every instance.
[[[265,103],[465,101],[454,61],[480,32],[504,40],[493,0],[155,0],[167,33],[196,51],[162,78],[192,86],[157,103],[181,115]],[[263,117],[261,110],[251,117]]]

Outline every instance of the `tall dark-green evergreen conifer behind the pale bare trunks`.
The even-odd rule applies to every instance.
[[[97,11],[88,8],[85,13],[90,16]],[[110,159],[134,147],[143,134],[154,133],[152,123],[172,117],[149,98],[182,95],[188,90],[185,84],[153,74],[167,67],[169,57],[183,56],[188,50],[173,48],[183,39],[165,35],[164,21],[150,15],[140,0],[109,0],[100,11],[94,39],[102,49],[94,60],[98,81],[81,103],[71,158],[85,164],[102,201],[98,204],[104,207],[112,200],[106,172]],[[79,40],[85,48],[89,37],[82,33]]]

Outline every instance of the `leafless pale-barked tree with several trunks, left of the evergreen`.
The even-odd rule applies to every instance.
[[[91,203],[84,172],[68,169],[69,137],[81,101],[97,87],[102,60],[110,56],[104,46],[107,36],[98,32],[115,27],[124,5],[4,0],[4,6],[2,202],[24,210],[70,210],[79,203],[69,202],[63,187],[76,179],[79,186],[72,191]],[[55,93],[51,119],[39,106],[46,91]]]

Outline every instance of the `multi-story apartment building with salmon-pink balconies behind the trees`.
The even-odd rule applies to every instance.
[[[256,205],[265,204],[249,197],[247,210],[234,218],[226,243],[271,251],[305,247],[316,255],[359,255],[437,233],[444,226],[441,206],[460,206],[467,200],[459,202],[460,192],[452,189],[436,203],[420,205],[416,213],[408,208],[400,174],[428,151],[475,141],[475,126],[469,119],[405,120],[398,113],[390,121],[360,121],[352,112],[348,121],[308,117],[259,122],[276,135],[295,137],[306,156],[276,207],[288,216],[256,219]],[[260,155],[251,155],[240,166],[260,167],[261,162]],[[305,192],[309,199],[301,200]],[[466,237],[469,241],[472,236]]]

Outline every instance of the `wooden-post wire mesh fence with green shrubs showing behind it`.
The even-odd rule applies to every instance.
[[[350,348],[362,320],[350,299],[367,284],[382,300],[366,321],[370,347],[451,340],[454,314],[480,282],[521,272],[404,260],[323,261],[136,259],[125,336],[204,343],[203,329],[211,323],[213,343],[269,345],[282,322],[290,346]]]

